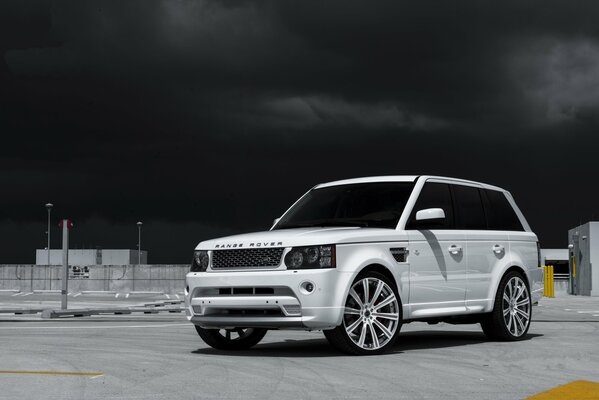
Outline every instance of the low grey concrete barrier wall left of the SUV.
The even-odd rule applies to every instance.
[[[88,273],[70,268],[69,292],[151,291],[183,292],[187,264],[170,265],[90,265]],[[60,290],[61,266],[0,265],[0,290]]]

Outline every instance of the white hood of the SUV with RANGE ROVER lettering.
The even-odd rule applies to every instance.
[[[317,244],[405,241],[407,239],[407,234],[404,231],[382,228],[332,227],[276,229],[206,240],[198,244],[196,250],[293,247]]]

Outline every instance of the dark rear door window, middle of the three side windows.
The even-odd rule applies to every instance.
[[[456,229],[487,229],[483,203],[477,188],[452,185],[456,206]]]

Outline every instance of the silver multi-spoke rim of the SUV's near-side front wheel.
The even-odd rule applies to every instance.
[[[377,350],[394,338],[399,315],[399,302],[393,289],[381,279],[365,277],[349,290],[343,327],[356,346]]]

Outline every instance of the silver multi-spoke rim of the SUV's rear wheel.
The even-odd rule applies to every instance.
[[[519,276],[512,277],[503,290],[503,320],[514,337],[522,336],[530,323],[530,296],[526,284]]]

